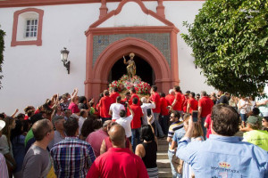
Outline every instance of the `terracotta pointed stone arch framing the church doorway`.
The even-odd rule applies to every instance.
[[[159,91],[167,92],[172,87],[172,72],[163,54],[153,45],[145,40],[126,37],[108,45],[99,55],[91,71],[88,71],[86,95],[97,98],[98,94],[107,89],[107,79],[113,64],[123,55],[130,52],[136,53],[147,61],[155,71],[155,85]]]

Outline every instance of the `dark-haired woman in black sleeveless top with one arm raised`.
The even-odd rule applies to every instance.
[[[142,158],[145,166],[147,167],[147,173],[150,178],[158,177],[158,168],[156,165],[156,152],[157,152],[157,138],[154,134],[154,128],[150,124],[150,119],[148,118],[149,125],[141,125],[140,128],[140,138],[143,140],[142,143],[138,144],[135,150],[135,154]]]

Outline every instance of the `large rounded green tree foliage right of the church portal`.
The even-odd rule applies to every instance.
[[[258,95],[268,82],[268,1],[207,0],[184,22],[206,83],[232,94]]]

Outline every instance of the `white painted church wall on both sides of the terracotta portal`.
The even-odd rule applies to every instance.
[[[145,2],[148,9],[156,12],[156,2]],[[187,32],[182,27],[182,21],[193,21],[195,14],[203,2],[163,2],[167,20],[171,20],[180,33]],[[74,87],[84,94],[86,72],[86,36],[84,31],[99,17],[101,4],[68,4],[37,6],[44,10],[42,46],[19,45],[11,47],[13,30],[13,12],[27,8],[1,8],[0,25],[6,32],[4,37],[4,65],[0,90],[0,112],[11,115],[18,108],[20,112],[27,105],[38,107],[46,98],[54,93],[71,93]],[[108,3],[108,12],[117,8],[118,3]],[[126,6],[127,7],[127,6]],[[129,6],[126,10],[131,9]],[[122,16],[127,20],[127,15]],[[128,24],[131,26],[131,24]],[[70,50],[71,74],[60,61],[60,51],[63,47]],[[179,75],[182,92],[191,90],[199,93],[201,90],[214,91],[204,84],[205,78],[195,69],[190,56],[191,49],[178,35]]]

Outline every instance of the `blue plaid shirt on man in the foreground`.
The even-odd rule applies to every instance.
[[[65,137],[50,150],[57,177],[86,177],[88,168],[95,161],[95,154],[88,142],[77,137]]]

